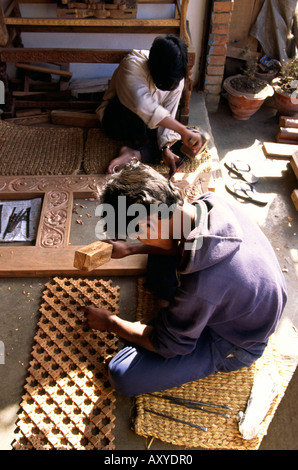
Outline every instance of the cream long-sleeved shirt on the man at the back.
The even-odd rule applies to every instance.
[[[117,95],[120,102],[137,114],[149,129],[157,129],[157,141],[161,149],[164,145],[172,145],[181,138],[180,134],[159,126],[159,123],[168,116],[175,118],[184,79],[173,91],[159,90],[152,80],[148,57],[147,50],[133,50],[121,61],[96,113],[102,122],[107,105]]]

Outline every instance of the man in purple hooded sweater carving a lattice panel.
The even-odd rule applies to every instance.
[[[140,162],[112,175],[103,189],[101,202],[114,208],[116,221],[123,216],[119,197],[145,216],[126,220],[141,243],[110,241],[112,256],[147,253],[148,287],[161,302],[147,324],[86,308],[91,328],[127,342],[109,364],[112,386],[135,396],[250,366],[262,355],[287,298],[260,228],[216,194],[183,201],[171,182]],[[116,232],[119,238],[117,224]]]

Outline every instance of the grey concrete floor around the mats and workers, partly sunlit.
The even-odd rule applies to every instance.
[[[288,285],[289,300],[278,334],[282,338],[285,353],[298,356],[298,217],[290,194],[297,187],[297,181],[288,164],[280,160],[268,160],[262,151],[262,142],[275,140],[278,118],[273,102],[269,101],[249,121],[235,120],[223,100],[217,113],[206,110],[202,94],[194,92],[191,99],[190,124],[202,126],[213,136],[211,151],[215,166],[222,170],[222,181],[217,192],[222,197],[234,199],[224,188],[230,179],[223,166],[226,159],[241,159],[249,162],[259,177],[257,190],[268,197],[268,204],[259,208],[253,204],[241,203],[247,212],[260,224],[274,249],[281,267],[284,269]],[[93,204],[93,206],[92,206]],[[239,202],[240,204],[240,202]],[[82,212],[95,209],[94,203],[87,205]],[[94,213],[94,212],[93,212]],[[89,224],[89,225],[88,225]],[[71,241],[83,240],[90,243],[90,233],[94,233],[92,219],[84,226],[72,224]],[[91,225],[90,225],[91,224]],[[47,278],[1,279],[0,280],[0,341],[5,346],[5,364],[0,363],[0,449],[11,449],[14,438],[16,413],[19,409],[27,367],[30,360],[35,328],[38,320],[41,294]],[[120,314],[128,319],[135,313],[135,278],[115,278],[120,286]],[[1,344],[1,343],[0,343]],[[279,405],[274,419],[264,437],[262,450],[298,449],[298,373],[294,374],[286,394]],[[130,429],[129,416],[132,401],[117,396],[115,446],[116,450],[145,450],[146,442]],[[151,450],[182,449],[155,440]]]

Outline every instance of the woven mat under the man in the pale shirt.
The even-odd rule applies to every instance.
[[[102,129],[90,129],[84,151],[83,168],[87,174],[102,174],[111,160],[117,157],[123,142],[117,142],[106,136]],[[164,176],[168,176],[169,168],[166,165],[150,165]],[[211,156],[205,149],[197,158],[187,159],[178,170],[183,173],[211,171]]]

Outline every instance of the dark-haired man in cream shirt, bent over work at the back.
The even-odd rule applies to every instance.
[[[96,111],[107,135],[127,142],[108,173],[133,158],[144,163],[162,159],[174,172],[180,161],[174,144],[183,143],[194,153],[200,149],[200,134],[175,118],[187,63],[186,45],[173,35],[157,37],[150,51],[133,50],[121,61]]]

